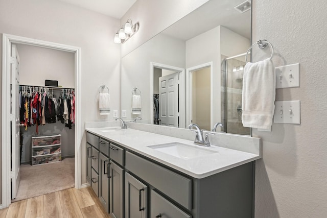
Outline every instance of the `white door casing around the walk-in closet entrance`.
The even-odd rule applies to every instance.
[[[2,53],[2,205],[11,204],[11,153],[10,147],[10,57],[11,43],[28,44],[46,49],[75,53],[75,187],[81,188],[81,48],[55,42],[42,41],[10,34],[3,34]]]

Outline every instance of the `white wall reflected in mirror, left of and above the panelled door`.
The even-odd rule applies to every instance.
[[[122,58],[122,110],[126,110],[126,119],[135,118],[131,114],[132,94],[134,87],[141,90],[142,119],[150,120],[150,71],[151,62],[185,67],[185,42],[170,36],[159,34],[147,43]],[[150,101],[150,99],[152,99]]]

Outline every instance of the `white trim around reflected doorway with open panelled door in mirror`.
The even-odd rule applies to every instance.
[[[150,69],[150,124],[153,124],[153,68],[168,69],[178,72],[179,74],[179,127],[185,128],[185,69],[166,64],[151,62]]]

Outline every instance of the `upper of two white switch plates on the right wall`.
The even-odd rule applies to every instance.
[[[300,64],[275,67],[276,88],[300,86]]]

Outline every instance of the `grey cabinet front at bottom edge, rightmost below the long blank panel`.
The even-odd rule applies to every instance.
[[[150,217],[179,217],[179,218],[191,218],[189,215],[179,209],[177,206],[169,202],[164,197],[160,196],[153,189],[151,190],[151,212]]]

